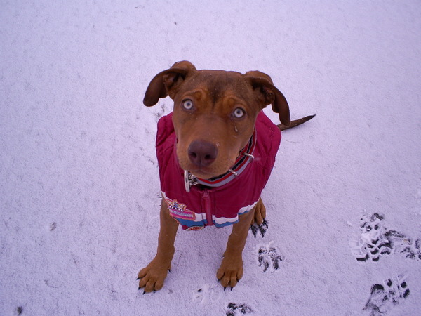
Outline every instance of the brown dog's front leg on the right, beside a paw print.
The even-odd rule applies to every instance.
[[[254,216],[255,208],[248,213],[239,216],[238,223],[232,225],[232,233],[229,235],[227,249],[216,277],[221,282],[222,287],[236,286],[243,277],[243,249],[246,245],[248,229]]]

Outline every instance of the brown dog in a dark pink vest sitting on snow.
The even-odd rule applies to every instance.
[[[156,136],[163,195],[158,249],[138,274],[139,289],[145,294],[163,287],[179,224],[187,230],[234,224],[216,273],[222,287],[232,289],[243,277],[250,223],[264,223],[260,193],[274,164],[279,130],[312,117],[291,122],[285,97],[258,71],[196,70],[190,62],[177,62],[152,79],[143,103],[152,106],[168,95],[174,110],[160,119]],[[269,104],[279,113],[277,127],[261,112]]]

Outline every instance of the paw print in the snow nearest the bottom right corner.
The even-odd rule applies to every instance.
[[[374,284],[371,287],[370,298],[363,310],[370,310],[372,316],[380,315],[402,303],[410,293],[406,278],[407,275],[399,275],[392,279],[386,279],[383,284]]]

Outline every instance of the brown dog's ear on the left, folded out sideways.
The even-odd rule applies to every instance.
[[[170,69],[159,72],[147,86],[143,104],[151,107],[158,103],[159,98],[168,95],[174,98],[177,88],[192,72],[196,72],[196,67],[188,61],[175,62]]]

